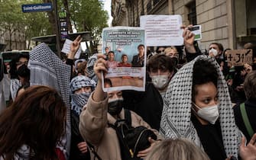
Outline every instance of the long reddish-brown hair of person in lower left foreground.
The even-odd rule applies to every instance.
[[[65,103],[55,89],[27,88],[0,114],[0,157],[11,160],[27,145],[30,159],[57,159],[54,149],[65,133],[65,120]]]

